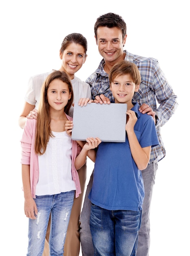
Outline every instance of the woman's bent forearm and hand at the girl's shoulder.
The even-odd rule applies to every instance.
[[[29,104],[28,102],[25,102],[24,109],[18,119],[18,124],[20,128],[24,129],[24,125],[27,121],[27,119],[37,119],[37,110],[35,109],[34,105]]]

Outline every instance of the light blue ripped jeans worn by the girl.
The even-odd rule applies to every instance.
[[[36,220],[29,219],[27,256],[42,256],[50,213],[50,255],[63,255],[74,196],[74,190],[56,195],[36,196],[34,200],[37,205],[38,216],[35,216]]]

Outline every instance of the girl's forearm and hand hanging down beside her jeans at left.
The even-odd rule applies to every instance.
[[[28,218],[35,220],[34,213],[37,215],[38,209],[31,194],[30,165],[22,164],[22,184],[24,190],[24,213]]]

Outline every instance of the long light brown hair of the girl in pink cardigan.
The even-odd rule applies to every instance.
[[[40,103],[38,108],[38,118],[35,133],[35,153],[38,155],[43,155],[45,153],[49,137],[53,137],[53,134],[50,129],[51,115],[47,99],[47,90],[49,88],[49,84],[54,79],[60,79],[61,81],[66,83],[68,85],[69,93],[71,93],[71,99],[68,100],[68,103],[64,107],[64,112],[67,115],[68,111],[70,110],[73,104],[73,87],[68,75],[65,72],[61,71],[54,71],[51,74],[49,74],[49,76],[47,76],[46,80],[42,85]]]

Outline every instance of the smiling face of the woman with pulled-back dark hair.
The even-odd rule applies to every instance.
[[[86,56],[82,45],[70,43],[63,53],[60,52],[62,59],[60,71],[66,72],[70,79],[73,79],[74,74],[80,70],[86,61]]]

